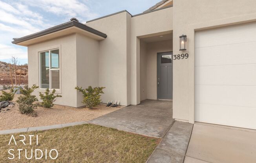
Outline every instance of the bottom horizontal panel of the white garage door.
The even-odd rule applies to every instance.
[[[195,104],[195,121],[205,123],[256,129],[255,115],[251,107]]]

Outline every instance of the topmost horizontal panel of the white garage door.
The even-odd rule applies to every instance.
[[[252,33],[256,33],[255,23],[198,31],[195,34],[195,48],[256,42],[256,37]]]

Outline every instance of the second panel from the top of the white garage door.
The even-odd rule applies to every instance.
[[[256,42],[195,49],[195,66],[256,63]]]

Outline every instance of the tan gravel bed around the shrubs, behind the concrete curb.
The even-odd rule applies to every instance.
[[[2,94],[2,92],[0,93]],[[61,105],[54,105],[51,109],[44,107],[38,107],[35,109],[37,117],[27,116],[20,114],[18,111],[18,104],[16,100],[18,94],[15,94],[13,99],[16,104],[15,107],[6,107],[2,110],[10,109],[9,111],[0,112],[0,130],[18,129],[25,127],[37,127],[46,125],[57,125],[61,123],[70,123],[76,121],[89,121],[93,120],[104,114],[108,114],[115,110],[123,108],[119,107],[106,107],[106,105],[100,104],[93,109],[88,108],[73,108]]]

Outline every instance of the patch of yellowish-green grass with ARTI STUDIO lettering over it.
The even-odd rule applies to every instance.
[[[26,136],[24,145],[18,141],[20,134]],[[29,145],[29,135],[38,135],[38,145],[35,137],[32,138],[32,145]],[[0,135],[0,162],[1,163],[26,163],[26,162],[55,162],[55,163],[144,163],[159,143],[158,138],[149,138],[129,132],[102,127],[99,125],[79,125],[38,132],[26,132],[14,134],[17,145],[13,141],[8,145],[10,135]],[[8,154],[9,149],[15,159]],[[18,159],[18,150],[21,151],[21,159]],[[25,158],[25,149],[28,157],[31,156],[31,149],[58,150],[57,159],[45,159],[45,152],[42,159],[35,160],[35,156],[28,160]],[[53,152],[53,157],[55,153]]]

